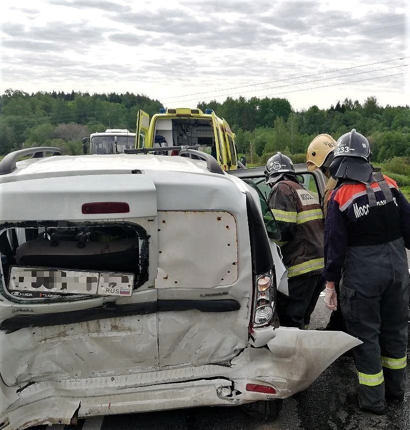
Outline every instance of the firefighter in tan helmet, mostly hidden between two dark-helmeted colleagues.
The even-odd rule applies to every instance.
[[[306,164],[307,170],[313,172],[316,169],[320,169],[323,175],[327,178],[327,184],[323,196],[322,209],[324,216],[326,217],[327,204],[329,203],[329,196],[336,186],[336,181],[331,177],[329,172],[329,167],[333,161],[333,151],[336,148],[336,141],[332,136],[328,134],[319,134],[316,136],[309,147],[307,148],[306,154]],[[316,290],[313,293],[312,305],[319,298],[320,293],[324,290],[324,280],[321,279],[317,285]],[[339,297],[339,282],[335,283],[336,296]],[[307,318],[305,319],[305,327],[308,326],[310,322],[310,315],[314,310],[314,306],[310,306],[307,312]],[[346,325],[343,320],[342,311],[340,306],[332,311],[329,322],[324,330],[336,330],[346,332]]]

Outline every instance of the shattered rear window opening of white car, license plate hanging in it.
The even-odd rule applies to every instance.
[[[25,297],[44,299],[130,296],[147,279],[147,250],[146,231],[137,224],[14,224],[0,234],[5,292],[23,298],[18,291],[34,291]]]

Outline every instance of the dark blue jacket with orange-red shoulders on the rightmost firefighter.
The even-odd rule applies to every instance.
[[[333,190],[327,209],[324,237],[327,281],[341,278],[347,250],[350,247],[381,245],[404,238],[410,249],[410,204],[393,179],[384,176],[393,202],[386,203],[377,182],[372,184],[377,206],[369,207],[366,186],[362,183],[342,184]],[[365,255],[363,255],[365,258]],[[360,262],[358,262],[360,264]],[[378,262],[374,261],[377,270]]]

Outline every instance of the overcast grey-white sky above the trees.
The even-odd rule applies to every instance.
[[[229,95],[286,97],[298,110],[369,95],[405,105],[409,5],[2,0],[0,91],[130,91],[167,107]]]

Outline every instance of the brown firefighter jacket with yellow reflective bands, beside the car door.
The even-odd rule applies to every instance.
[[[321,272],[324,223],[318,198],[296,182],[279,181],[269,195],[269,206],[281,233],[277,244],[288,277]]]

